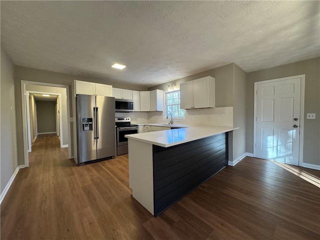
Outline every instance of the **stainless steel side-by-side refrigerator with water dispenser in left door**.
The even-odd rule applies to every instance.
[[[114,97],[77,94],[78,164],[115,156]]]

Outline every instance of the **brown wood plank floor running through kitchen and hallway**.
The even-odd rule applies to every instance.
[[[128,156],[77,166],[40,135],[1,204],[1,239],[320,239],[320,188],[246,157],[153,217]]]

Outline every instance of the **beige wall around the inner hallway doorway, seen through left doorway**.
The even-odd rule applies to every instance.
[[[62,139],[61,140],[62,140],[62,145],[67,145],[68,144],[68,125],[67,125],[68,118],[67,118],[67,99],[66,99],[65,88],[25,84],[25,90],[61,94],[61,117],[62,117]],[[39,129],[38,129],[38,132],[40,132]]]

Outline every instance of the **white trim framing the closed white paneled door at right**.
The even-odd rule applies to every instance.
[[[299,166],[303,164],[303,126],[304,126],[304,85],[305,85],[305,74],[296,76],[287,76],[276,79],[270,79],[265,81],[255,81],[254,82],[254,111],[253,111],[253,156],[256,156],[256,91],[257,84],[268,83],[273,81],[282,81],[291,78],[300,78],[301,89],[300,89],[300,134],[299,134]]]

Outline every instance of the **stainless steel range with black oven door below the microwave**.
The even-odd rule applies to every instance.
[[[128,153],[128,138],[124,135],[138,133],[139,126],[130,121],[130,117],[115,117],[117,155]]]

